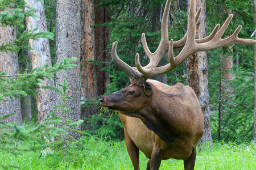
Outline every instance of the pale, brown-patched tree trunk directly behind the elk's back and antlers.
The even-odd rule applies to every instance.
[[[196,8],[203,7],[199,18],[199,24],[196,24],[196,39],[206,37],[206,8],[205,1],[196,1]],[[188,0],[188,5],[190,0]],[[207,52],[197,52],[188,58],[188,82],[193,88],[199,99],[204,117],[204,134],[200,143],[212,143],[212,133],[210,131],[210,113],[209,113],[209,90],[208,90],[208,66]]]

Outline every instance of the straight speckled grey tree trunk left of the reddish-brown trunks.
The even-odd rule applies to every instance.
[[[76,57],[77,61],[72,63],[77,67],[69,70],[63,70],[62,73],[56,73],[56,84],[63,84],[64,79],[68,86],[67,95],[73,100],[66,100],[66,107],[71,110],[66,114],[66,118],[73,121],[80,120],[80,56],[81,56],[81,1],[56,1],[56,62],[64,58]],[[60,88],[60,86],[57,86]],[[61,96],[57,96],[57,104],[63,104]],[[80,135],[74,131],[69,134],[76,139]]]

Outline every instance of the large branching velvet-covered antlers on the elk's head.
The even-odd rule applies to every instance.
[[[204,39],[195,39],[196,35],[196,22],[199,18],[201,13],[201,7],[196,13],[196,2],[195,0],[191,0],[190,8],[189,8],[189,15],[188,15],[188,32],[185,36],[179,41],[168,41],[168,13],[170,11],[170,4],[171,0],[167,0],[166,7],[164,8],[163,13],[163,20],[162,20],[162,37],[160,40],[160,44],[158,49],[156,49],[155,53],[151,53],[148,49],[147,42],[145,39],[144,33],[142,33],[142,44],[145,53],[147,54],[150,62],[147,66],[142,67],[141,63],[139,62],[139,54],[137,53],[135,56],[135,65],[137,68],[131,67],[123,62],[118,56],[116,52],[117,42],[113,43],[112,46],[112,59],[115,65],[117,65],[120,69],[125,71],[131,78],[135,80],[139,86],[143,86],[143,82],[147,79],[151,78],[152,76],[164,74],[169,71],[174,70],[177,66],[179,66],[182,62],[185,61],[192,53],[199,52],[199,51],[206,51],[212,50],[216,48],[220,48],[222,46],[232,45],[232,44],[256,44],[256,40],[250,39],[241,39],[238,38],[237,35],[240,32],[242,26],[239,25],[236,31],[234,31],[233,35],[226,38],[221,39],[223,33],[225,32],[226,28],[233,17],[230,15],[228,19],[226,19],[225,23],[220,28],[220,24],[217,24],[216,27],[213,29],[212,33],[208,37]],[[220,30],[218,30],[220,28]],[[184,46],[184,47],[183,47]],[[180,54],[174,57],[173,49],[174,48],[181,48]],[[170,63],[167,65],[156,67],[163,57],[164,53],[168,51],[168,58]]]

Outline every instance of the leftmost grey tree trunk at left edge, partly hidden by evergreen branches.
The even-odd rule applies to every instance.
[[[10,8],[7,8],[7,11],[9,10]],[[0,12],[5,13],[5,11]],[[0,44],[16,39],[16,29],[11,25],[0,27],[0,33]],[[17,71],[19,71],[18,54],[16,52],[0,52],[0,65],[0,73],[5,71],[8,74],[17,74]],[[18,121],[18,125],[22,125],[22,115],[20,110],[20,99],[6,97],[5,101],[0,101],[0,116],[15,113],[13,116],[3,120],[6,123]]]

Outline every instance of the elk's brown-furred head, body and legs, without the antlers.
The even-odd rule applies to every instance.
[[[196,145],[204,133],[203,114],[195,92],[180,83],[147,83],[151,85],[151,95],[133,83],[100,100],[102,106],[120,113],[134,169],[139,169],[139,150],[150,159],[147,169],[159,169],[161,160],[170,158],[183,159],[184,168],[193,169]]]

